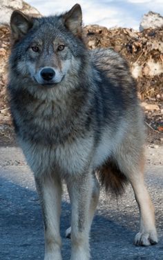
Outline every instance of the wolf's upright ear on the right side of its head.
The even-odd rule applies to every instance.
[[[64,25],[76,36],[81,36],[82,13],[78,3],[63,15]]]

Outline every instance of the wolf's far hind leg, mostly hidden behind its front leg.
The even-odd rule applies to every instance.
[[[93,193],[92,193],[92,198],[90,201],[90,208],[89,208],[90,226],[93,221],[93,217],[94,217],[95,210],[97,208],[98,201],[99,201],[99,183],[94,174],[94,176],[93,176]],[[70,234],[71,234],[71,227],[66,230],[66,237],[68,239],[70,239]]]

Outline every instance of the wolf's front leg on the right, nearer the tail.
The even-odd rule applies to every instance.
[[[92,174],[79,175],[67,181],[71,215],[71,242],[72,251],[70,260],[90,259],[89,232],[90,232],[90,201],[93,193]]]

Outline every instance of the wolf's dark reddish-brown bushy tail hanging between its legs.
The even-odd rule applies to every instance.
[[[99,168],[97,176],[106,193],[111,193],[117,197],[124,192],[128,184],[128,179],[113,161],[107,161],[104,166]]]

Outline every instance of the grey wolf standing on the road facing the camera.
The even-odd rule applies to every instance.
[[[157,243],[144,186],[144,123],[134,79],[111,48],[88,50],[81,7],[10,19],[8,93],[17,139],[34,172],[45,232],[44,260],[61,260],[62,183],[71,212],[71,260],[90,259],[99,183],[116,196],[130,182],[140,209],[135,245]]]

